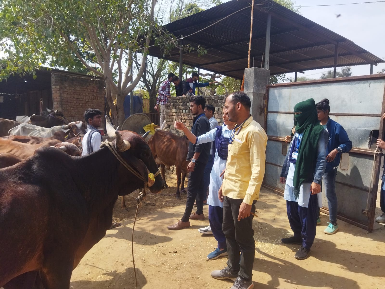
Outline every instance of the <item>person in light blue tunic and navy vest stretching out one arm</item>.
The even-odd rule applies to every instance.
[[[223,125],[217,126],[211,129],[206,134],[199,136],[198,138],[192,134],[186,126],[180,122],[175,121],[174,128],[180,129],[186,134],[191,143],[201,144],[214,141],[215,156],[213,169],[210,172],[210,186],[209,196],[207,203],[209,205],[209,225],[204,228],[198,229],[202,234],[213,234],[215,240],[218,242],[216,249],[207,255],[208,260],[215,260],[221,256],[227,256],[226,237],[222,230],[223,224],[223,203],[218,199],[218,191],[222,185],[222,177],[220,176],[222,171],[226,168],[226,161],[228,155],[229,137],[231,131],[234,129],[235,123],[229,121],[228,116],[223,110]]]

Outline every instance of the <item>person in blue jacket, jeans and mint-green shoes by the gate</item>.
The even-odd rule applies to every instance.
[[[326,198],[329,205],[329,225],[323,231],[325,234],[335,234],[338,231],[337,224],[337,195],[335,192],[335,181],[337,168],[340,165],[341,155],[352,149],[352,141],[341,124],[336,123],[329,117],[330,106],[328,99],[322,99],[316,104],[318,120],[329,133],[329,142],[326,150],[326,169],[323,174]],[[321,223],[318,217],[317,225]]]

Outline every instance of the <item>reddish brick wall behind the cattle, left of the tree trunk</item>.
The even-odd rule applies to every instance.
[[[62,111],[68,121],[84,121],[87,108],[97,108],[105,113],[103,80],[52,73],[51,84],[54,109]]]

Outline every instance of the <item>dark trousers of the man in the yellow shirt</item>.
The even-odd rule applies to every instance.
[[[238,221],[239,206],[243,199],[223,199],[223,233],[226,236],[230,273],[237,274],[243,280],[250,281],[253,276],[255,255],[253,215]],[[251,212],[255,213],[255,200],[251,205]],[[239,251],[242,257],[239,256]],[[239,262],[239,259],[241,262]]]

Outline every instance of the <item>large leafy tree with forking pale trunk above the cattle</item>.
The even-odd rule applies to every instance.
[[[4,39],[1,51],[6,56],[0,78],[32,74],[43,63],[72,67],[80,61],[88,71],[104,78],[112,119],[120,125],[124,97],[142,76],[150,41],[164,43],[165,52],[175,42],[154,18],[155,4],[156,0],[2,1],[0,39]],[[143,57],[134,78],[130,70],[135,53]]]

